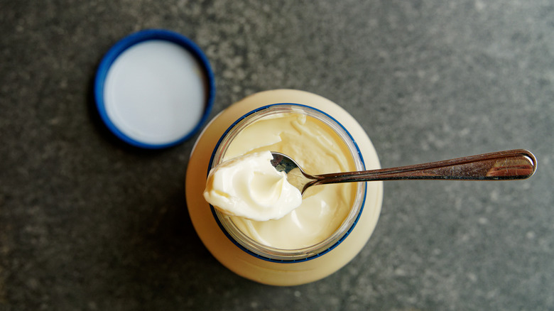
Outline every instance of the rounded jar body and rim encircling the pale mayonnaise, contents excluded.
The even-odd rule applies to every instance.
[[[276,114],[305,114],[321,121],[346,145],[354,170],[380,168],[363,129],[337,104],[308,92],[267,91],[233,104],[207,125],[190,157],[186,195],[192,224],[200,239],[224,266],[260,283],[298,285],[334,273],[359,253],[379,217],[382,182],[355,184],[347,217],[321,242],[298,249],[278,249],[251,239],[232,217],[207,204],[202,191],[207,173],[224,159],[233,139],[246,126]]]

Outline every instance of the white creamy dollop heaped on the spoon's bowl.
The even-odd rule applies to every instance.
[[[302,203],[302,195],[272,159],[264,151],[220,163],[210,170],[205,200],[224,214],[261,222],[285,216]]]

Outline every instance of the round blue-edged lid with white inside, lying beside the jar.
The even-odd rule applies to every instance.
[[[141,148],[175,146],[206,121],[215,95],[205,54],[189,38],[148,29],[117,42],[94,80],[100,117],[117,137]]]

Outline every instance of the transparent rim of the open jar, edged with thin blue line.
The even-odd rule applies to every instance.
[[[210,158],[209,169],[213,168],[218,163],[222,162],[224,159],[225,153],[229,149],[229,145],[232,143],[233,139],[237,136],[238,133],[246,129],[247,126],[254,124],[256,121],[259,121],[262,118],[267,116],[272,116],[275,114],[305,114],[306,116],[311,116],[319,121],[321,121],[325,126],[331,129],[337,136],[340,137],[341,141],[347,146],[347,149],[350,153],[349,156],[352,157],[354,166],[356,170],[365,170],[364,160],[362,158],[362,153],[359,151],[359,148],[354,141],[354,138],[350,135],[347,129],[340,124],[332,116],[326,114],[319,109],[313,107],[305,106],[303,104],[271,104],[268,106],[260,107],[259,109],[254,109],[249,113],[241,116],[237,121],[234,122],[227,131],[224,132],[217,145],[214,148],[212,156]],[[362,209],[364,207],[364,202],[366,198],[366,182],[358,182],[355,190],[354,200],[352,206],[349,209],[347,216],[340,224],[340,227],[336,229],[330,236],[328,236],[323,241],[320,241],[317,244],[296,248],[296,249],[281,249],[273,246],[268,246],[252,239],[250,236],[245,234],[237,224],[232,221],[232,217],[229,217],[222,212],[219,212],[217,209],[212,209],[212,214],[216,220],[219,227],[222,229],[224,234],[240,249],[246,251],[252,256],[262,258],[267,261],[290,263],[298,261],[308,261],[313,258],[317,258],[328,251],[331,251],[336,246],[338,246],[349,233],[354,229]]]

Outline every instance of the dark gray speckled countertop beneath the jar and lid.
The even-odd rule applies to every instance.
[[[0,21],[0,310],[554,310],[551,1],[0,0]],[[303,89],[354,115],[384,167],[528,148],[538,171],[386,182],[342,270],[253,283],[192,229],[195,138],[136,150],[94,111],[102,55],[144,28],[205,50],[210,117]]]

